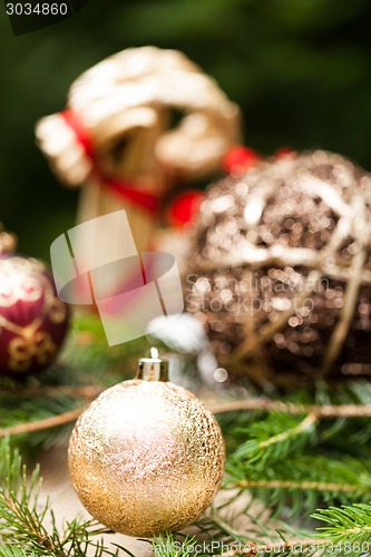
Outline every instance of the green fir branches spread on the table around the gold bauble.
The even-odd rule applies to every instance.
[[[49,505],[38,502],[38,469],[27,480],[19,452],[66,444],[86,404],[128,379],[148,350],[148,339],[108,349],[96,321],[76,322],[58,368],[23,382],[0,381],[1,557],[133,555],[106,547],[107,530],[95,521],[75,519],[59,531]],[[225,392],[211,404],[227,444],[226,502],[195,525],[199,535],[148,541],[154,555],[371,555],[371,384],[269,397],[250,385],[247,392],[241,400]],[[248,526],[238,526],[238,497],[245,497],[238,512]]]

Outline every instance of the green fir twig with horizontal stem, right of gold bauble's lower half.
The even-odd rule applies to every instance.
[[[371,498],[370,468],[350,457],[294,455],[265,467],[230,460],[225,487],[250,490],[274,515],[312,512],[320,502],[367,502]]]

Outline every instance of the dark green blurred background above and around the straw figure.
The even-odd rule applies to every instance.
[[[368,0],[90,0],[69,20],[13,37],[0,9],[0,221],[23,253],[49,258],[74,224],[33,126],[60,110],[71,81],[127,47],[183,50],[243,109],[245,143],[321,147],[371,169]]]

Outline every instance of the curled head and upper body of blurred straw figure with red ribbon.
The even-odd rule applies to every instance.
[[[84,186],[78,222],[125,208],[140,252],[177,182],[215,173],[238,143],[240,110],[182,52],[141,47],[85,71],[36,135],[58,177]]]

